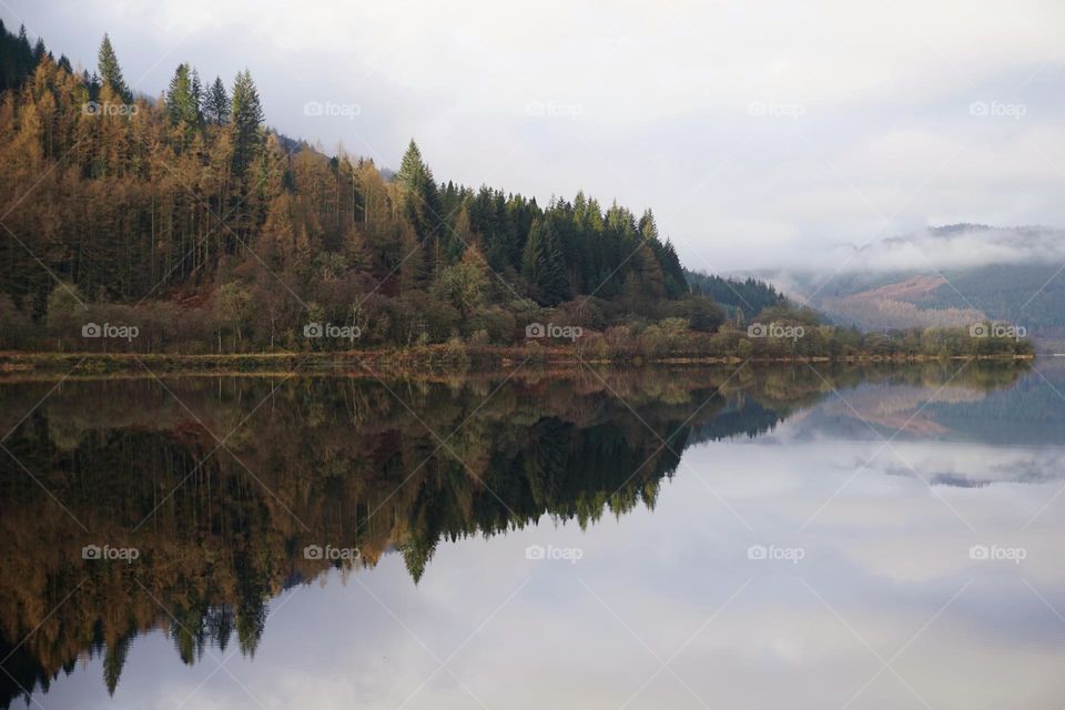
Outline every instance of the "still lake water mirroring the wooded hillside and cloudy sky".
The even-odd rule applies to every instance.
[[[0,384],[0,707],[1059,709],[1063,394],[1061,361]]]

